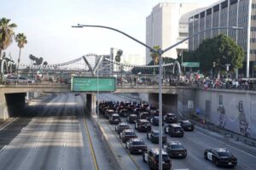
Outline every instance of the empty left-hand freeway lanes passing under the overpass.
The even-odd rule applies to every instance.
[[[37,99],[0,127],[0,169],[114,169],[101,136],[73,94]]]

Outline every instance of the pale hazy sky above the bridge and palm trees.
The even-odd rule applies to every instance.
[[[57,64],[84,54],[110,54],[110,48],[145,57],[142,45],[116,31],[71,26],[110,26],[146,42],[146,17],[155,5],[163,2],[201,0],[0,0],[0,18],[8,18],[18,26],[15,34],[26,35],[27,44],[21,49],[22,64],[29,64],[29,54]],[[206,4],[215,2],[204,0]],[[19,48],[15,41],[5,52],[17,62]]]

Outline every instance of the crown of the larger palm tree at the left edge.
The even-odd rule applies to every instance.
[[[6,18],[0,20],[0,57],[2,56],[3,49],[8,48],[11,42],[13,42],[15,35],[13,29],[17,27],[17,25],[9,22],[10,20]]]

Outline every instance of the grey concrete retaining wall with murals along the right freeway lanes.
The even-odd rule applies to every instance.
[[[215,125],[256,139],[256,93],[197,90],[199,115]]]

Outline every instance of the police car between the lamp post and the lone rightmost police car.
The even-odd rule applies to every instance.
[[[175,158],[184,158],[187,156],[187,150],[183,144],[178,141],[168,141],[163,145],[163,149],[166,151],[168,156]]]

